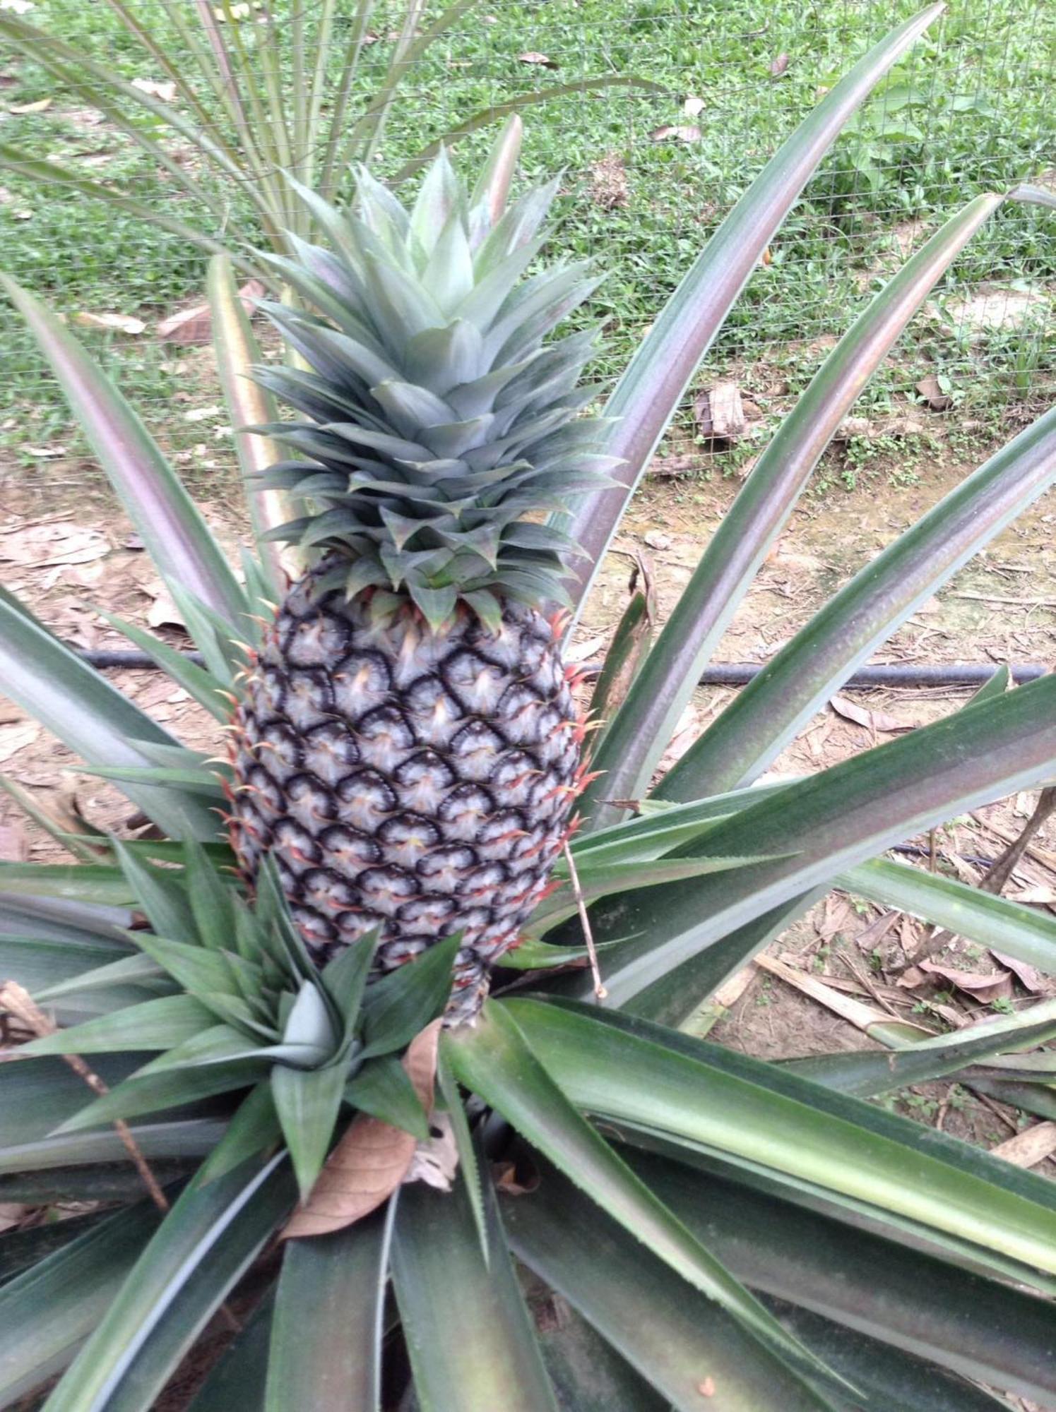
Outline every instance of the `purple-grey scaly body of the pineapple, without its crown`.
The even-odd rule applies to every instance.
[[[440,631],[404,602],[291,590],[232,733],[232,842],[248,875],[274,857],[320,964],[380,931],[392,970],[463,933],[448,1022],[542,895],[580,788],[583,724],[555,621],[503,604]],[[391,602],[391,600],[390,600]]]

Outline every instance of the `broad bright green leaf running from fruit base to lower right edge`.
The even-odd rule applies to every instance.
[[[1056,1271],[1056,1192],[1043,1178],[676,1031],[568,1003],[504,1008],[569,1099],[601,1118],[795,1175]]]

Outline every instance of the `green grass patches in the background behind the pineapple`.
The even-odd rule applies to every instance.
[[[438,44],[400,102],[380,158],[392,172],[426,140],[469,112],[510,93],[597,73],[634,72],[669,96],[632,90],[576,95],[532,109],[524,169],[565,169],[560,239],[570,257],[597,257],[610,275],[594,301],[607,340],[599,371],[611,377],[710,230],[796,120],[915,0],[496,0]],[[176,52],[161,0],[137,14]],[[281,4],[275,6],[281,16]],[[380,71],[398,6],[380,4],[367,51]],[[100,6],[51,0],[30,18],[88,48],[127,78],[158,78]],[[281,28],[281,24],[280,24]],[[832,335],[943,216],[978,191],[1004,188],[1045,169],[1053,147],[1046,78],[1056,48],[1049,0],[963,0],[912,51],[839,141],[786,222],[713,349],[702,383],[733,374],[774,407],[809,378]],[[546,55],[555,69],[520,55]],[[377,58],[374,59],[374,56]],[[786,68],[781,56],[788,56]],[[82,164],[97,181],[134,185],[140,199],[189,212],[141,154],[56,92],[31,65],[8,62],[6,141],[40,157]],[[11,79],[14,82],[11,82]],[[686,116],[686,96],[703,100]],[[10,112],[41,99],[47,110]],[[695,124],[700,140],[654,141],[664,124]],[[463,147],[481,150],[488,134]],[[599,199],[596,164],[606,158],[625,186],[620,203]],[[148,322],[203,281],[203,258],[131,217],[55,191],[3,178],[0,240],[16,278],[68,315],[120,311]],[[1008,404],[1042,400],[1056,384],[1056,342],[1038,302],[1024,318],[980,330],[966,322],[966,295],[980,285],[1038,292],[1056,280],[1049,213],[1008,208],[976,239],[918,318],[856,412],[905,409],[926,371],[943,380],[959,415],[985,421]],[[0,445],[68,441],[66,417],[28,339],[8,325],[6,371],[13,412],[0,417]],[[90,336],[120,370],[121,385],[175,448],[199,432],[174,417],[186,397],[186,361],[150,333]],[[775,391],[776,390],[776,391]],[[212,394],[203,391],[206,401]],[[693,435],[683,418],[679,435]],[[23,457],[27,453],[23,450]],[[28,457],[32,459],[32,457]]]

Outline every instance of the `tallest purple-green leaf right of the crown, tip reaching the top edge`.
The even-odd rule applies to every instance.
[[[631,491],[774,233],[851,113],[942,10],[942,4],[929,6],[898,25],[824,96],[712,236],[642,339],[606,405],[606,415],[616,419],[606,450],[624,460],[614,473],[624,493],[593,493],[579,503],[570,522],[560,517],[562,528],[582,545],[569,566],[576,603],[586,596]]]

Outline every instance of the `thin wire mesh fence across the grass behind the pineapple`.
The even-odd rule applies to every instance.
[[[93,56],[103,73],[140,92],[152,86],[189,123],[192,100],[200,100],[236,144],[237,114],[195,68],[193,45],[210,41],[203,16],[236,59],[244,54],[256,65],[260,86],[247,109],[258,104],[250,117],[271,138],[284,114],[296,127],[298,85],[319,64],[332,79],[325,102],[336,102],[343,61],[359,45],[352,131],[370,110],[364,95],[384,89],[395,54],[402,83],[368,150],[388,178],[470,114],[525,92],[545,96],[524,110],[524,172],[563,171],[565,253],[607,271],[590,311],[606,329],[601,378],[625,363],[703,240],[795,123],[915,8],[902,0],[481,0],[463,6],[450,25],[446,11],[412,6],[408,25],[404,0],[370,11],[326,0],[296,10],[280,0],[134,0],[128,13],[147,35],[144,48],[112,4],[0,3]],[[980,191],[1045,179],[1056,137],[1048,100],[1055,55],[1049,0],[964,0],[911,49],[767,251],[709,354],[669,456],[750,459],[834,337],[925,233]],[[281,225],[287,215],[264,178],[250,191],[208,167],[199,172],[195,145],[134,112],[127,95],[100,113],[97,76],[78,86],[69,71],[41,69],[13,47],[0,82],[4,152],[17,147],[56,171],[128,192],[222,243],[239,234],[263,243],[261,222]],[[140,141],[144,131],[164,160]],[[481,126],[462,136],[459,152],[483,150],[493,133]],[[295,131],[291,141],[296,161]],[[265,176],[282,155],[281,143],[264,154]],[[188,174],[200,181],[199,198],[188,195]],[[158,322],[199,297],[205,256],[172,230],[76,188],[42,188],[24,171],[0,179],[4,267],[82,323],[151,425],[209,470],[215,443],[209,418],[198,415],[213,401],[208,347],[157,339]],[[971,435],[1049,402],[1055,281],[1052,213],[1008,203],[863,394],[850,441],[928,436],[939,426]],[[66,449],[68,418],[28,339],[8,325],[4,343],[11,407],[0,417],[0,448],[24,462],[47,460]]]

